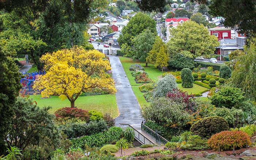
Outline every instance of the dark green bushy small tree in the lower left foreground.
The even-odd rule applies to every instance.
[[[49,113],[50,107],[39,108],[29,96],[19,96],[12,108],[15,114],[11,117],[11,129],[5,134],[4,140],[8,148],[17,147],[24,150],[29,144],[37,144],[48,137],[59,145],[59,132]]]

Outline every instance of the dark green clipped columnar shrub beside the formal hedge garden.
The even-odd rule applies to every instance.
[[[181,70],[181,80],[182,80],[181,86],[184,88],[192,88],[194,86],[193,85],[194,78],[189,68],[183,68]]]

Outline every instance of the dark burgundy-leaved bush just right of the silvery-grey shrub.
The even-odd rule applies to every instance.
[[[182,92],[180,89],[173,88],[173,92],[168,92],[166,98],[172,99],[174,102],[186,104],[186,110],[192,111],[195,106],[195,95]]]

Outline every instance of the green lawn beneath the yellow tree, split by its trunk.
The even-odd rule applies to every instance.
[[[52,98],[41,99],[41,95],[32,95],[30,98],[36,101],[39,107],[51,106],[50,113],[54,113],[59,108],[70,107],[68,99],[61,100],[59,96],[51,96]],[[110,113],[111,116],[118,116],[116,104],[116,95],[96,95],[81,96],[75,101],[75,106],[83,110],[96,110],[102,114]]]

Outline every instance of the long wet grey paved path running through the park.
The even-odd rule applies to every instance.
[[[116,85],[116,103],[119,116],[116,118],[116,126],[125,123],[140,129],[142,118],[140,117],[140,104],[132,90],[130,82],[124,72],[123,65],[118,56],[109,56],[112,67],[112,77],[118,83]]]

